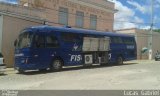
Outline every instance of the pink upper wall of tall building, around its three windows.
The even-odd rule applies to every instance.
[[[114,3],[104,0],[20,0],[21,5],[28,3],[28,7],[45,9],[46,20],[49,25],[63,26],[58,24],[59,7],[68,8],[69,26],[75,26],[76,11],[84,12],[84,27],[90,29],[90,14],[97,16],[97,28],[100,31],[113,31]]]

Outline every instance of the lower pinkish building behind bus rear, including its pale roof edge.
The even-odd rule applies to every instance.
[[[151,36],[149,30],[131,28],[131,29],[116,30],[116,32],[135,35],[135,39],[137,43],[137,59],[149,59],[148,52],[142,53],[142,49],[148,48],[149,46],[148,41],[149,41],[149,37]],[[153,36],[152,59],[154,59],[154,56],[157,50],[160,51],[160,46],[157,44],[157,42],[160,41],[160,33],[153,32],[152,36]]]

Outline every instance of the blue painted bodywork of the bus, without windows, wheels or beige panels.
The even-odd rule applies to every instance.
[[[134,36],[109,33],[109,32],[97,32],[93,30],[84,29],[72,29],[72,28],[59,28],[59,27],[49,27],[40,26],[28,28],[25,30],[30,30],[34,33],[33,39],[35,39],[36,34],[42,35],[45,38],[44,48],[36,48],[35,41],[31,43],[32,47],[28,48],[16,48],[15,49],[15,68],[22,70],[35,70],[35,69],[46,69],[49,68],[53,60],[60,58],[63,61],[64,66],[76,66],[82,65],[84,63],[82,45],[83,37],[121,37],[123,38],[133,38]],[[30,33],[28,31],[28,33]],[[74,42],[66,42],[62,38],[62,34],[78,34],[77,40]],[[58,45],[56,47],[49,46],[46,43],[47,36],[55,36]],[[135,41],[134,41],[135,42]],[[128,47],[127,47],[128,46]],[[133,47],[134,46],[134,47]],[[109,63],[116,62],[118,56],[122,56],[124,60],[134,60],[136,59],[136,43],[133,45],[127,45],[124,43],[116,44],[110,43],[110,60]]]

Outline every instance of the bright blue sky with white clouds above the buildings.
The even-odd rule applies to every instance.
[[[0,0],[16,3],[17,0]],[[139,28],[150,29],[152,0],[108,0],[115,3],[114,29]],[[153,0],[153,27],[160,29],[160,0]]]

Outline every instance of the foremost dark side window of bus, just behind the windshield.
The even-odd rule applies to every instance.
[[[45,37],[41,35],[36,35],[34,47],[44,48],[45,47]]]

